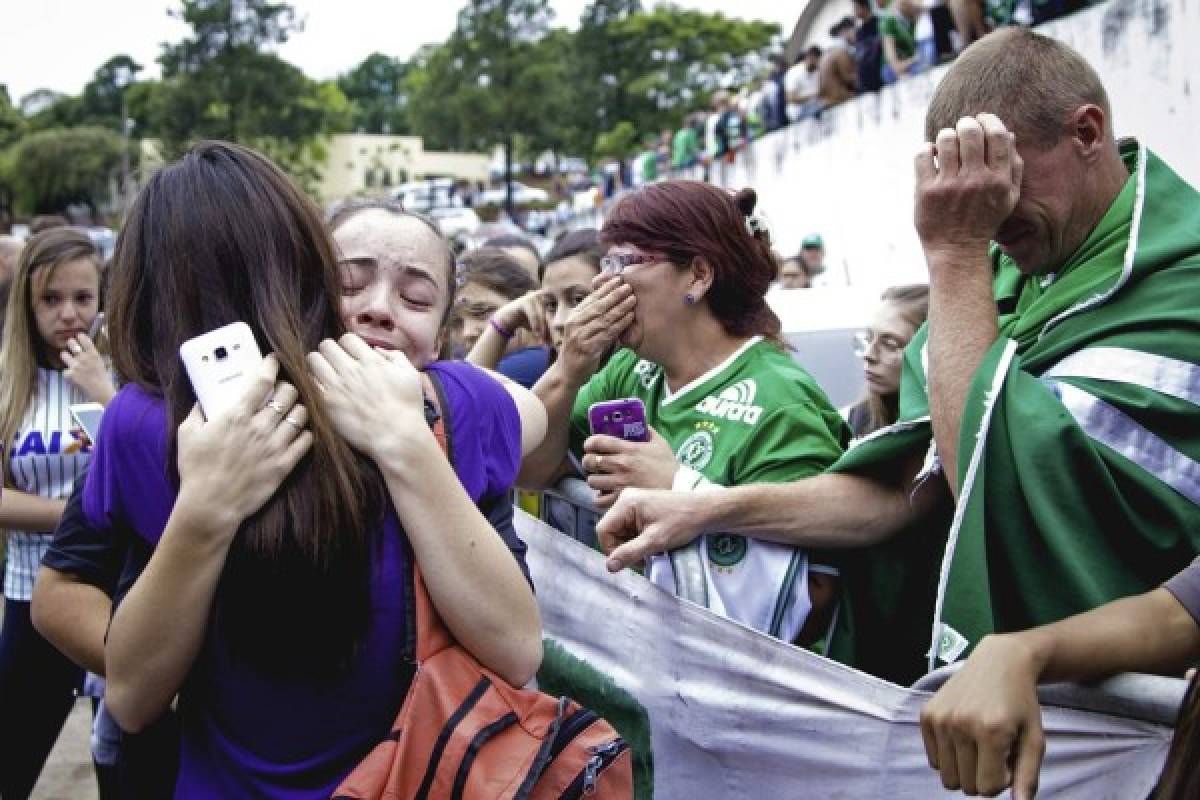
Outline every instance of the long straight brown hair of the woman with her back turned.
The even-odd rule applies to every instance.
[[[217,620],[252,662],[300,670],[344,663],[366,631],[384,493],[374,467],[337,435],[305,366],[322,339],[344,330],[320,212],[259,154],[199,143],[133,204],[116,243],[109,308],[118,374],[166,402],[176,485],[175,431],[196,402],[180,344],[240,320],[278,356],[314,441],[239,530]]]

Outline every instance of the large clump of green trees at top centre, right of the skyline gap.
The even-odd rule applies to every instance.
[[[638,0],[593,0],[580,29],[548,26],[544,1],[473,0],[407,78],[430,148],[485,150],[520,132],[532,152],[628,155],[628,128],[658,132],[763,66],[778,25]],[[637,137],[635,136],[634,139]]]

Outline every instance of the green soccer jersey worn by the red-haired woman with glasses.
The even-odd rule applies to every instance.
[[[617,353],[575,398],[571,450],[577,456],[589,435],[588,407],[623,397],[646,404],[647,422],[680,464],[721,486],[816,475],[850,439],[812,377],[762,337],[674,392],[661,367],[631,350]]]

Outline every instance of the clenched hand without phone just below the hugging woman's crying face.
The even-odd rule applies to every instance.
[[[421,374],[400,350],[378,350],[346,333],[308,354],[337,433],[377,464],[395,456],[414,431],[428,431]]]

